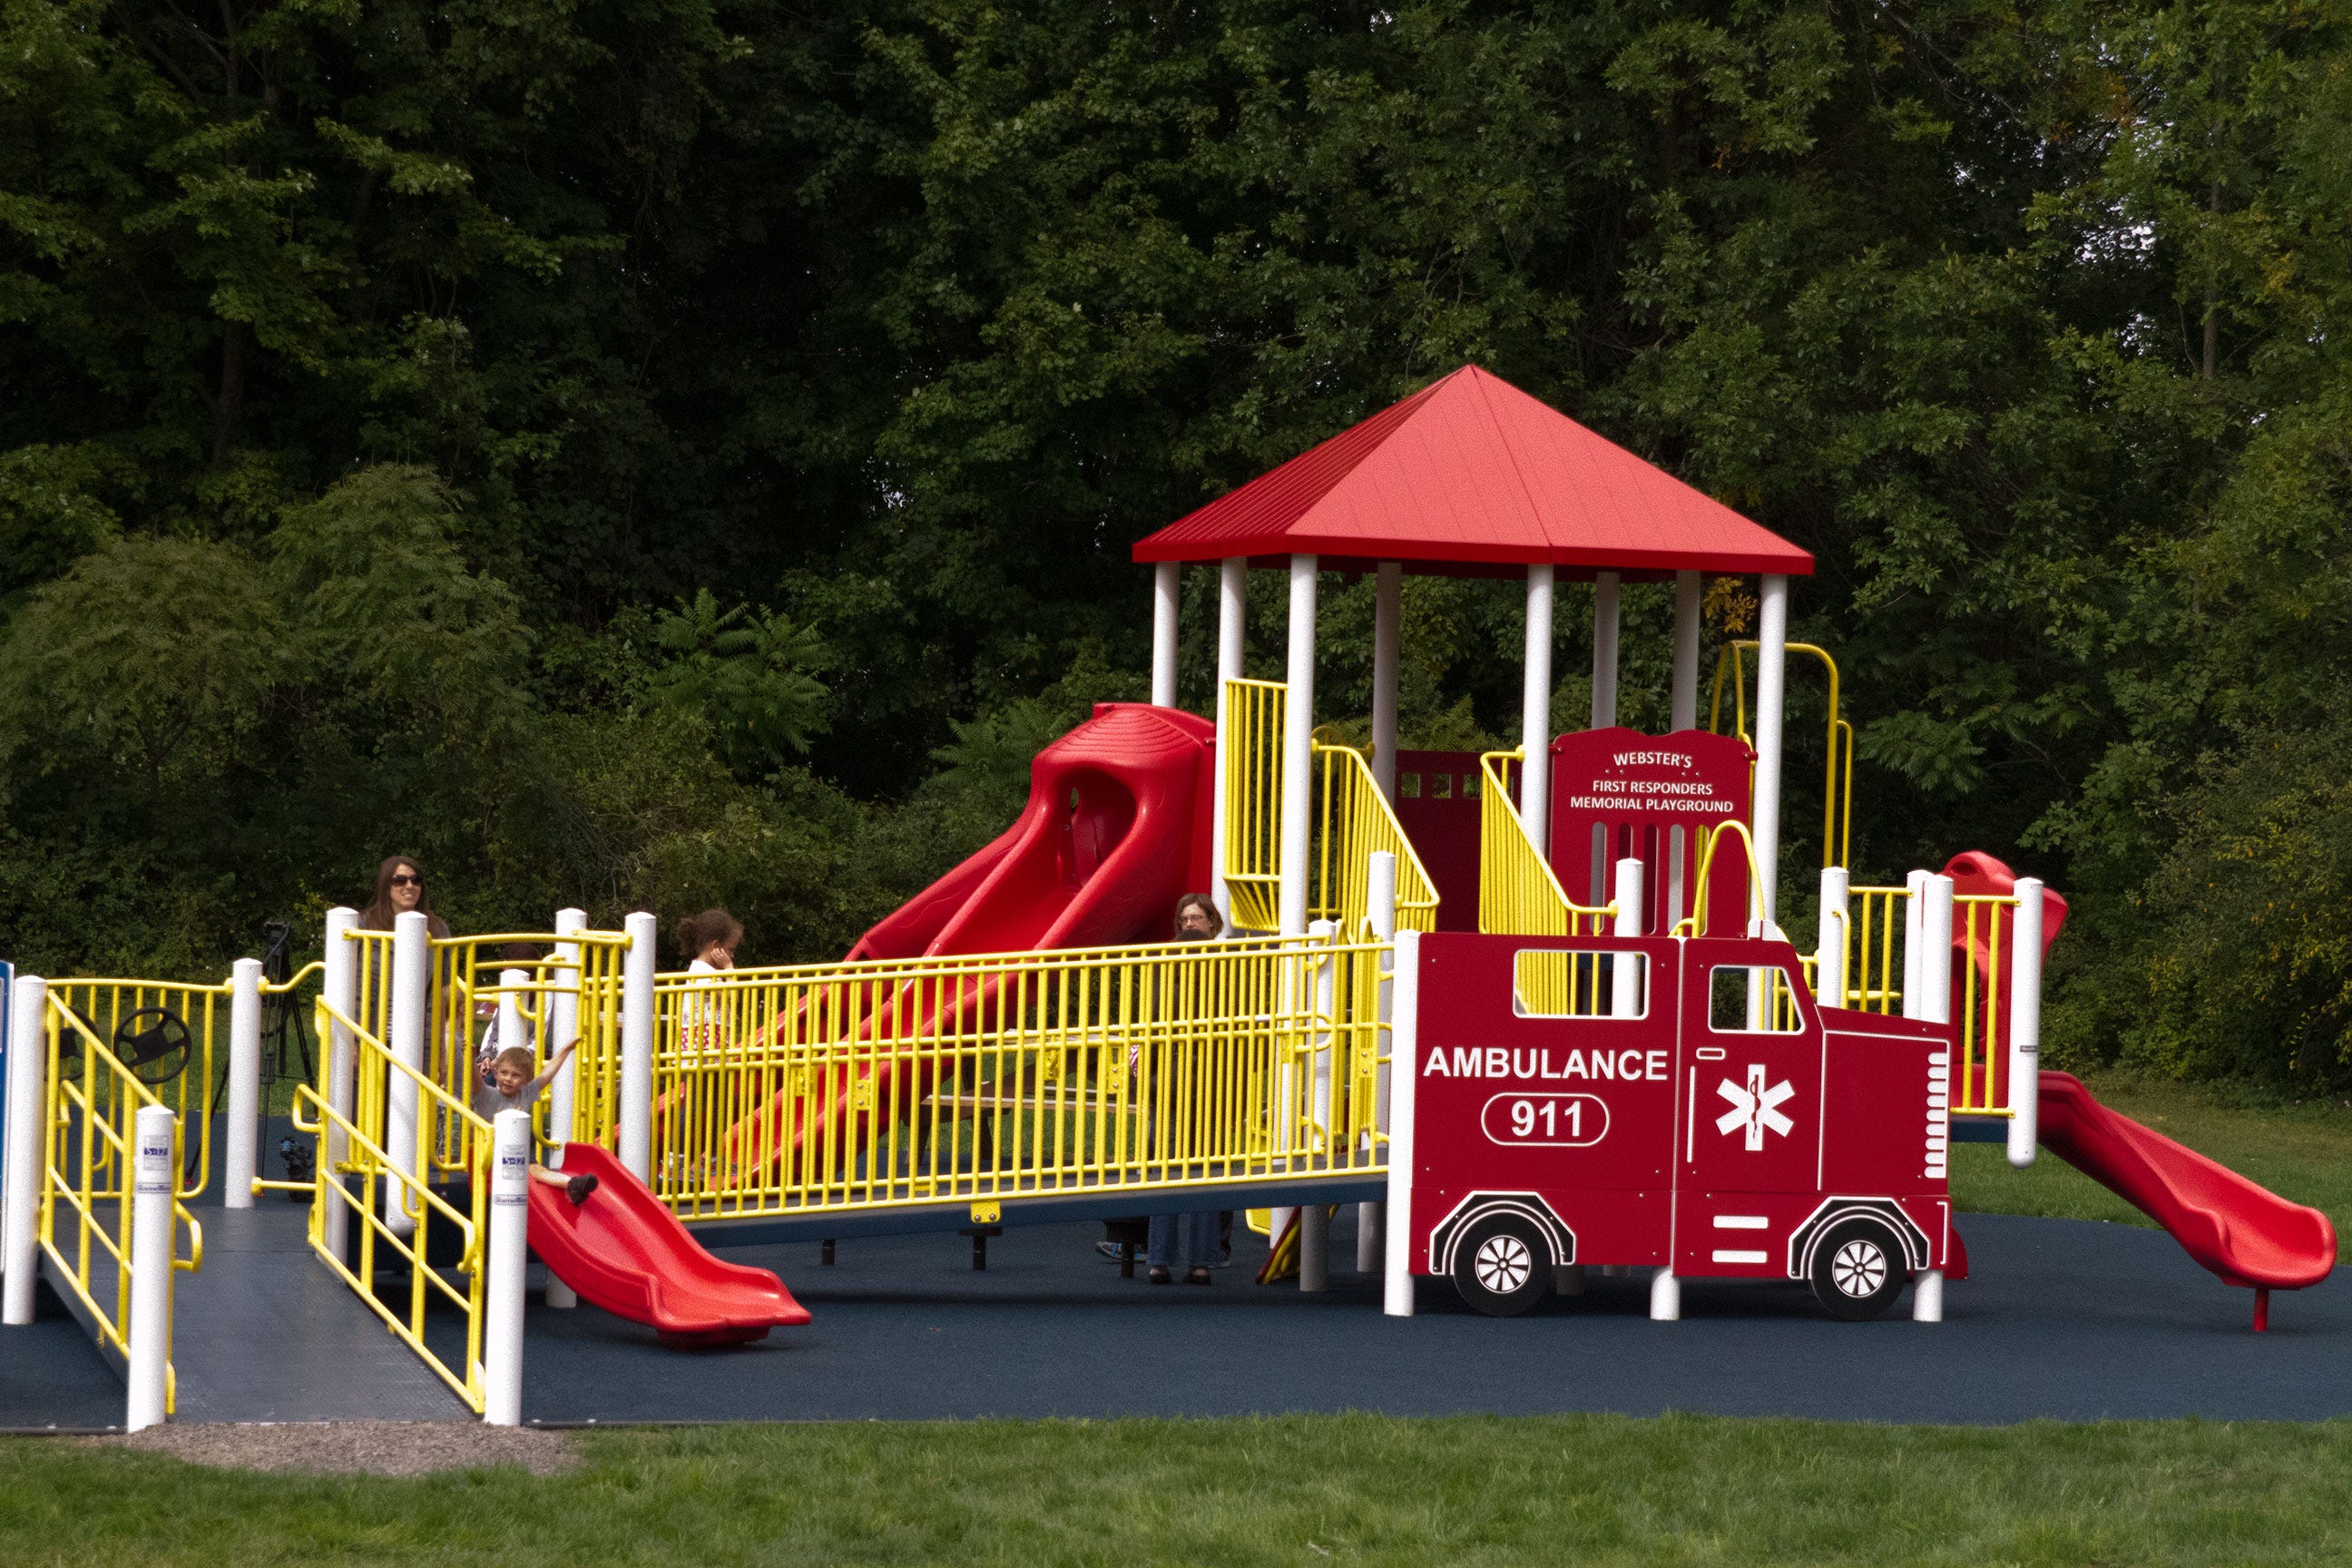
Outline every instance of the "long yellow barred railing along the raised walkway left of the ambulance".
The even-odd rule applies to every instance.
[[[654,1190],[684,1220],[985,1215],[1378,1173],[1381,952],[1263,938],[661,976]]]

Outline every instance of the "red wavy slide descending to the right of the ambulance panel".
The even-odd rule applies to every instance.
[[[2253,1326],[2270,1291],[2317,1286],[2336,1267],[2336,1225],[2197,1150],[2091,1098],[2070,1072],[2042,1074],[2042,1145],[2173,1234],[2223,1284],[2253,1286]]]

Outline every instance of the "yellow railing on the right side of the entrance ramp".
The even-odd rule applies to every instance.
[[[489,1150],[489,1121],[473,1114],[463,1100],[435,1084],[428,1074],[397,1060],[383,1039],[358,1018],[339,1013],[325,997],[318,1001],[318,1034],[327,1039],[334,1023],[341,1023],[355,1046],[355,1095],[350,1117],[339,1114],[310,1084],[294,1091],[294,1126],[325,1143],[329,1128],[343,1135],[346,1159],[329,1171],[322,1159],[318,1187],[310,1199],[310,1248],[334,1269],[343,1284],[360,1293],[360,1300],[383,1319],[426,1366],[447,1382],[470,1410],[482,1413],[482,1295],[489,1269],[482,1246],[489,1234],[489,1182],[475,1166]],[[414,1145],[402,1150],[407,1159],[393,1159],[388,1095],[390,1086],[407,1079],[416,1088]],[[428,1185],[440,1154],[442,1128],[456,1128],[461,1166],[473,1175],[470,1206],[459,1211]],[[348,1187],[343,1178],[358,1178]],[[353,1237],[353,1260],[339,1258],[327,1246],[327,1206],[339,1204],[348,1215]],[[390,1213],[386,1213],[390,1211]],[[395,1222],[397,1215],[397,1222]],[[454,1232],[456,1262],[447,1269],[433,1267],[435,1234]],[[407,1272],[402,1288],[379,1286],[379,1262],[390,1262]],[[452,1284],[456,1274],[461,1284]],[[397,1293],[395,1293],[397,1291]],[[386,1300],[390,1295],[390,1300]],[[445,1349],[426,1335],[426,1319],[435,1307],[454,1309],[461,1319],[463,1349],[456,1366]]]

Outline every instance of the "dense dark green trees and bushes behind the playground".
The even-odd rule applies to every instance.
[[[397,846],[840,952],[1138,691],[1134,538],[1475,360],[1818,555],[1858,870],[2065,889],[2060,1056],[2347,1079],[2347,21],[0,0],[0,947],[209,971]],[[1517,623],[1411,583],[1416,738]]]

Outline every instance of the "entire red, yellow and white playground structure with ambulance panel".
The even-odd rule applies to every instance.
[[[677,1342],[807,1319],[706,1246],[941,1229],[981,1265],[1004,1225],[1265,1208],[1319,1291],[1343,1201],[1362,1204],[1357,1267],[1385,1274],[1392,1314],[1411,1314],[1416,1274],[1512,1312],[1576,1269],[1646,1267],[1658,1319],[1679,1316],[1684,1279],[1722,1276],[1811,1281],[1849,1316],[1912,1284],[1933,1321],[1966,1274],[1955,1140],[2082,1164],[2256,1288],[2256,1326],[2270,1288],[2333,1265],[2324,1215],[2039,1072],[2056,893],[1973,851],[1851,884],[1839,672],[1785,639],[1802,550],[1465,369],[1136,559],[1155,567],[1152,701],[1101,705],[1040,752],[1018,820],[840,964],[656,973],[649,914],[435,940],[423,917],[358,931],[334,910],[325,959],[285,983],[252,959],[160,1004],[143,983],[19,980],[14,1039],[35,1048],[9,1051],[7,1321],[38,1267],[101,1342],[136,1345],[158,1312],[169,1342],[167,1291],[141,1314],[134,1286],[169,1279],[176,1246],[141,1265],[158,1234],[186,1234],[176,1267],[202,1258],[183,1199],[212,1161],[223,999],[228,1204],[306,1197],[322,1265],[492,1420],[517,1408],[520,1211],[548,1305],[588,1298]],[[1214,722],[1176,708],[1183,562],[1218,569]],[[1268,564],[1289,578],[1284,682],[1242,668],[1249,569]],[[1376,583],[1362,750],[1315,726],[1324,571]],[[1406,571],[1524,574],[1517,748],[1397,750]],[[1550,726],[1562,576],[1595,604],[1590,726],[1569,736]],[[1710,576],[1757,578],[1757,637],[1724,644],[1700,729]],[[1675,590],[1663,736],[1616,722],[1625,581]],[[1790,651],[1828,677],[1811,954],[1780,924]],[[1235,936],[1157,940],[1202,886]],[[543,957],[487,959],[513,940]],[[268,1182],[261,1004],[308,985],[322,1051],[294,1117],[320,1159]],[[541,1056],[581,1041],[534,1131],[546,1164],[576,1147],[607,1180],[607,1211],[520,1185],[520,1133],[473,1114],[482,1018]],[[141,1079],[172,1048],[183,1070]],[[125,1173],[158,1114],[179,1182],[172,1206],[141,1206]]]

